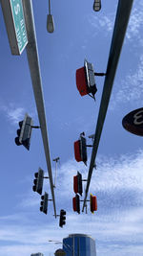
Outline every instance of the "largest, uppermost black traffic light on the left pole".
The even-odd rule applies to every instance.
[[[19,122],[19,129],[17,129],[17,137],[15,138],[15,144],[17,146],[23,145],[28,151],[30,151],[32,123],[31,117],[26,114],[24,120]]]

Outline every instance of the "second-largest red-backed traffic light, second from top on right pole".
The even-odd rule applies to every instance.
[[[80,134],[80,139],[74,142],[74,156],[77,162],[83,161],[87,165],[87,145],[83,133]]]

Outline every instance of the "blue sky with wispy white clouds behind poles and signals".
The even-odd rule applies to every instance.
[[[86,233],[96,241],[97,255],[142,256],[143,251],[143,150],[142,138],[122,128],[122,118],[142,107],[143,3],[134,0],[132,15],[112,88],[106,121],[97,153],[90,192],[97,196],[98,211],[78,215],[72,211],[72,177],[88,168],[73,158],[73,142],[79,133],[95,130],[104,78],[96,78],[96,102],[81,97],[75,70],[84,58],[96,72],[105,72],[118,1],[102,1],[101,12],[90,1],[51,1],[55,32],[47,33],[48,1],[33,1],[33,13],[47,113],[51,159],[60,156],[55,198],[57,212],[67,211],[63,229],[49,213],[39,211],[40,197],[32,192],[33,174],[41,167],[47,174],[40,130],[32,130],[31,151],[14,144],[17,122],[28,112],[38,125],[26,51],[11,56],[0,9],[0,256],[27,256],[41,251],[53,255],[59,245],[48,243],[71,233]],[[90,142],[90,139],[89,139]],[[88,149],[89,162],[91,149]],[[52,171],[54,175],[54,164]],[[49,192],[46,180],[44,189]],[[81,204],[82,205],[82,204]]]

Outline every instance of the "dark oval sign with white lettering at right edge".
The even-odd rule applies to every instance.
[[[143,107],[126,115],[122,120],[122,125],[133,134],[143,136]]]

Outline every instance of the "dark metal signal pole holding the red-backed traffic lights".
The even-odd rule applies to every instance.
[[[118,64],[118,60],[120,57],[124,37],[126,34],[126,29],[128,26],[128,21],[130,18],[130,13],[133,6],[133,0],[119,0],[118,1],[118,7],[116,12],[116,18],[114,23],[114,29],[112,34],[112,44],[111,44],[111,50],[107,65],[107,72],[106,77],[104,81],[104,87],[103,87],[103,93],[102,93],[102,99],[101,104],[99,108],[99,114],[97,119],[97,124],[95,128],[95,135],[93,140],[93,147],[92,147],[92,157],[91,157],[91,163],[89,168],[89,174],[88,174],[88,181],[85,191],[85,198],[83,203],[82,212],[84,211],[84,208],[86,207],[86,199],[88,197],[90,182],[92,178],[92,170],[94,167],[94,161],[96,157],[96,153],[99,146],[100,136],[102,132],[102,128],[104,125],[104,121],[107,114],[108,105],[111,98],[112,93],[112,85],[115,77],[115,72]]]

